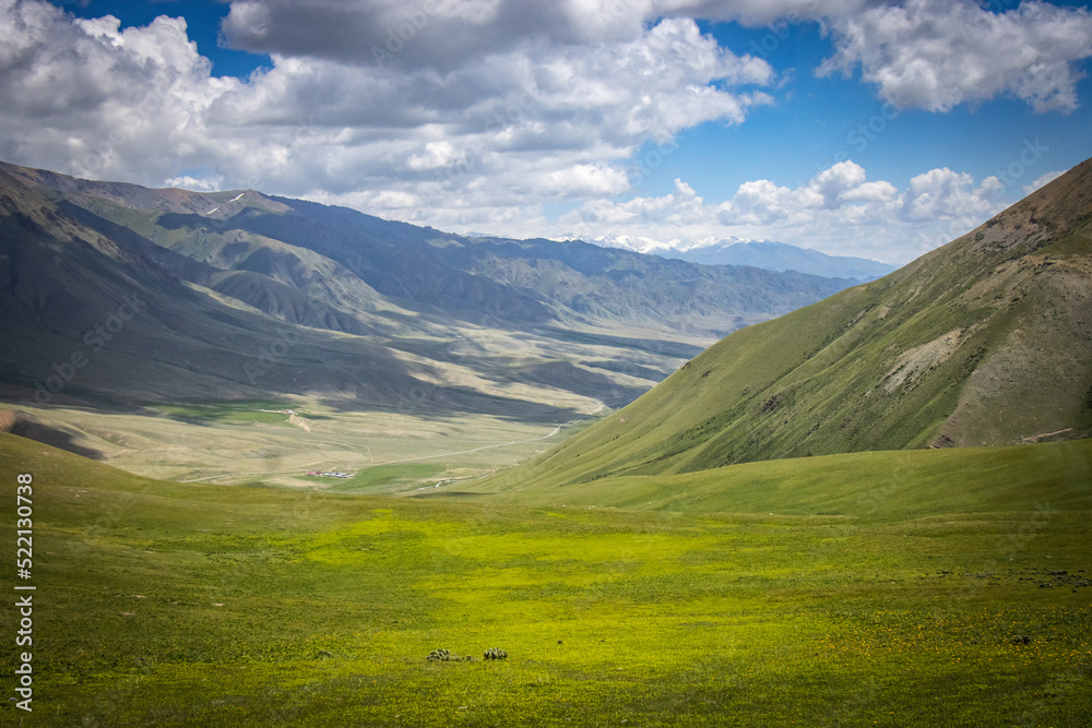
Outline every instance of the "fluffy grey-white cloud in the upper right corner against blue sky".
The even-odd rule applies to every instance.
[[[1069,111],[1073,63],[1092,56],[1092,13],[1044,2],[994,13],[973,0],[906,0],[829,23],[838,51],[819,72],[859,65],[900,108],[947,111],[1010,94],[1036,111]]]

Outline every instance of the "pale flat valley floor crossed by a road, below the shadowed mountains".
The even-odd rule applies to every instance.
[[[35,422],[27,437],[145,477],[377,494],[461,482],[527,460],[586,427],[603,409],[581,404],[585,414],[556,422],[431,415],[408,404],[343,411],[304,397],[155,404],[129,411],[26,405],[17,410]],[[312,470],[354,477],[307,475]]]

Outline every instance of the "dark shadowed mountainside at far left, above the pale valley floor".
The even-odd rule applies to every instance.
[[[88,227],[46,191],[0,169],[5,398],[119,404],[321,390],[382,401],[417,382],[415,367],[379,344],[348,345],[216,295],[192,283],[215,267],[128,230]],[[314,354],[322,366],[304,366]]]

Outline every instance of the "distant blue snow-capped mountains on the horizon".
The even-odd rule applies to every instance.
[[[784,242],[741,240],[736,237],[664,243],[651,238],[607,236],[590,242],[702,265],[750,265],[767,271],[797,271],[829,278],[875,281],[895,270],[893,265],[867,258],[828,255],[818,250]]]

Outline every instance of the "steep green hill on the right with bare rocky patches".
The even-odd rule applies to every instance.
[[[1092,160],[880,281],[727,336],[494,484],[1090,435]]]

